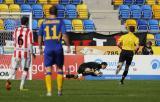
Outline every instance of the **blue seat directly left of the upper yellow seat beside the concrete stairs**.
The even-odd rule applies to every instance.
[[[66,17],[69,19],[77,18],[77,10],[75,5],[66,5]]]

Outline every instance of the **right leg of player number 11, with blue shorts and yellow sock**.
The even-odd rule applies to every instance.
[[[58,96],[62,95],[63,88],[63,64],[64,64],[64,54],[63,49],[56,52],[56,65],[57,65],[57,88]]]

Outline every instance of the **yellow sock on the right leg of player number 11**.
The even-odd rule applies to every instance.
[[[57,73],[57,87],[58,87],[58,91],[62,91],[62,84],[63,84],[63,72],[59,71]]]

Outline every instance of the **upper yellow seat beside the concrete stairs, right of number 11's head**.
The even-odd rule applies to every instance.
[[[86,4],[77,5],[78,18],[88,19],[88,8]]]

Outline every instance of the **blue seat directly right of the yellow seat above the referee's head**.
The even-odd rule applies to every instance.
[[[147,31],[148,30],[148,22],[146,20],[138,20],[138,31]]]

